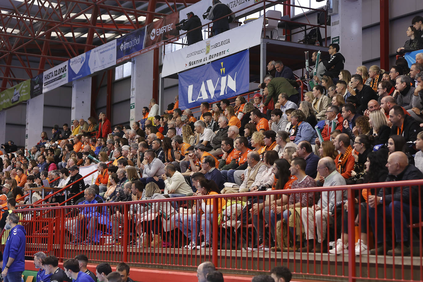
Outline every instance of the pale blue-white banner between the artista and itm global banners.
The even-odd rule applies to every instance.
[[[88,58],[90,73],[110,68],[116,64],[116,39],[91,50]]]

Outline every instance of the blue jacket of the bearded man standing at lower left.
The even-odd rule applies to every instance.
[[[16,225],[10,230],[3,251],[2,270],[4,270],[9,257],[15,259],[9,267],[10,272],[25,270],[25,235],[26,231],[22,225]]]

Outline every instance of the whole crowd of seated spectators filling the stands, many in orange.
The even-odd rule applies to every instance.
[[[414,27],[407,30],[410,41],[398,52],[421,46],[422,21],[420,16],[413,19]],[[88,122],[74,120],[72,130],[68,124],[63,124],[63,131],[55,125],[51,137],[42,132],[40,142],[27,153],[18,150],[3,155],[2,191],[18,204],[33,204],[41,200],[40,192],[34,191],[32,197],[24,194],[43,180],[54,180],[51,186],[66,189],[49,197],[49,202],[62,203],[67,197],[67,204],[82,205],[423,178],[423,53],[416,55],[409,69],[399,58],[388,71],[376,65],[369,70],[357,66],[355,74],[344,69],[345,57],[338,44],[330,44],[329,53],[329,60],[321,59],[317,75],[310,78],[316,86],[305,93],[304,101],[292,70],[281,61],[271,61],[269,74],[259,85],[263,96],[257,93],[252,101],[239,96],[214,105],[203,102],[198,119],[191,110],[179,108],[176,96],[163,115],[151,99],[143,108],[143,119],[130,126],[111,127],[104,113],[99,114],[99,123],[92,117]],[[98,177],[86,187],[80,167],[93,163],[97,163]],[[409,254],[407,225],[419,217],[418,188],[364,190],[356,199],[356,203],[367,202],[368,218],[363,217],[367,214],[363,205],[356,207],[362,227],[368,220],[374,230],[383,225],[382,220],[398,218],[393,208],[405,221],[395,220],[395,238],[382,238],[379,232],[379,247],[371,253],[383,253],[383,241],[395,240],[395,249],[389,250],[387,244],[388,253]],[[280,249],[275,244],[275,222],[289,221],[297,216],[292,209],[299,208],[297,222],[305,228],[306,243],[293,242],[287,249],[313,246],[314,252],[327,252],[327,230],[333,228],[337,203],[345,199],[346,191],[329,191],[318,197],[291,194],[248,200],[243,211],[251,215],[257,238],[248,248]],[[398,208],[398,199],[411,205]],[[186,248],[211,247],[212,222],[218,220],[212,217],[213,210],[221,216],[232,202],[220,199],[215,207],[207,198],[195,200],[190,208],[179,207],[180,203],[134,205],[128,216],[130,228],[136,229],[130,244],[170,244],[165,237],[178,228],[189,240]],[[119,226],[126,222],[119,205],[75,211],[65,225],[73,244],[99,244],[102,233],[113,234],[110,244],[121,244]],[[148,218],[151,213],[156,217]],[[173,225],[168,224],[172,221]],[[99,226],[102,231],[97,232]],[[198,236],[201,230],[203,236]],[[348,249],[346,232],[330,252]],[[357,255],[367,252],[369,244],[368,230],[361,232]]]

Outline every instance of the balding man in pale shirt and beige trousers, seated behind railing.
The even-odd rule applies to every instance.
[[[349,137],[347,136],[347,138]],[[320,173],[320,176],[324,178],[324,187],[346,185],[345,178],[336,171],[335,162],[330,157],[324,157],[319,160],[319,163],[317,164],[317,171]],[[311,208],[305,207],[301,209],[302,224],[305,228],[306,238],[309,240],[308,247],[306,244],[304,251],[308,251],[308,248],[313,248],[313,241],[315,238],[314,228],[316,227],[318,242],[316,242],[316,249],[314,249],[313,252],[326,252],[327,243],[325,242],[325,239],[327,225],[331,224],[334,220],[331,213],[332,207],[335,203],[345,199],[346,190],[323,191],[321,192],[320,200],[317,202],[317,205],[314,205]],[[321,249],[320,244],[322,241],[323,249]]]

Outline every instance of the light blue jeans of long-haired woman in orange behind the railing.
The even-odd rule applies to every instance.
[[[204,241],[210,243],[212,220],[213,214],[180,214],[179,218],[176,218],[176,224],[179,230],[195,244],[197,244],[197,237],[201,227],[204,233]]]

